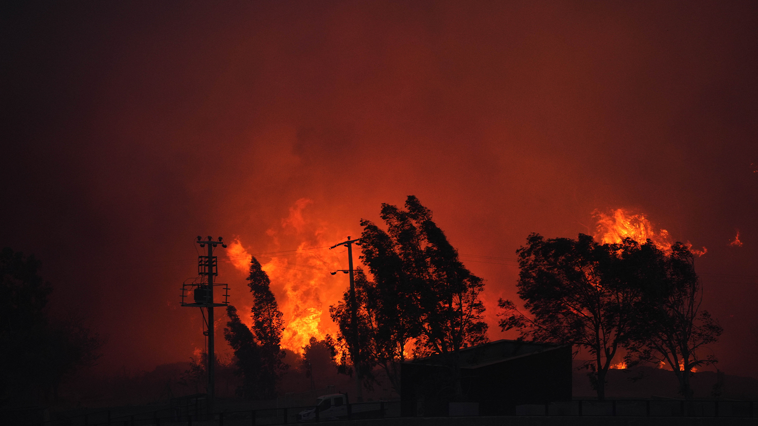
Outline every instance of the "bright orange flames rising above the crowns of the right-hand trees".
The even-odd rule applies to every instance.
[[[597,232],[594,237],[595,240],[600,240],[600,243],[621,243],[624,238],[631,238],[637,243],[650,240],[663,252],[667,254],[671,252],[674,240],[669,235],[669,231],[665,229],[656,231],[644,213],[632,213],[624,208],[616,208],[609,213],[595,210],[593,215],[597,218]],[[702,250],[692,249],[689,241],[686,245],[698,256],[708,252],[705,247]]]

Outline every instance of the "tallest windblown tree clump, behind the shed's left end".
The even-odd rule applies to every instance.
[[[361,221],[361,258],[374,280],[360,274],[356,279],[360,359],[370,366],[381,365],[398,391],[395,364],[405,359],[409,341],[415,344],[415,356],[452,355],[449,362],[456,374],[454,354],[487,342],[479,299],[484,281],[459,261],[428,208],[415,196],[408,197],[405,207],[382,205],[386,232],[371,221]],[[340,325],[337,340],[345,343],[351,332],[348,296],[330,309]]]

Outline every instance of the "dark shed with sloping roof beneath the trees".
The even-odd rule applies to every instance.
[[[405,362],[400,380],[404,416],[453,414],[451,407],[465,406],[456,403],[478,404],[480,415],[512,414],[520,404],[571,400],[572,347],[496,340],[447,356]]]

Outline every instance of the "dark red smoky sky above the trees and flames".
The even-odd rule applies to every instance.
[[[758,375],[756,2],[4,9],[0,244],[42,259],[56,312],[108,335],[101,368],[202,347],[199,312],[177,307],[196,235],[330,245],[413,194],[459,252],[499,259],[466,262],[492,338],[515,298],[502,259],[528,233],[643,212],[707,247],[725,327],[708,350]]]

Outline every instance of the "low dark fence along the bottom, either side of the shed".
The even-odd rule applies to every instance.
[[[340,418],[324,417],[318,410],[312,417],[303,420],[301,412],[315,409],[314,406],[300,406],[277,409],[251,409],[230,412],[189,412],[180,414],[176,409],[160,409],[136,412],[130,415],[115,416],[110,410],[89,412],[84,415],[58,414],[50,419],[20,418],[7,421],[7,412],[0,412],[3,424],[23,426],[167,426],[171,424],[218,424],[218,426],[261,426],[268,424],[292,424],[302,421],[318,422],[357,418],[397,418],[400,417],[400,403],[373,402],[346,404],[346,412]],[[613,399],[597,401],[594,399],[577,399],[573,401],[525,404],[515,407],[515,416],[625,416],[625,417],[756,417],[754,401],[731,400],[666,400],[666,399]],[[334,413],[333,413],[334,414]]]

